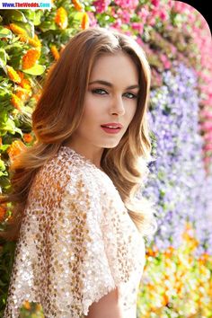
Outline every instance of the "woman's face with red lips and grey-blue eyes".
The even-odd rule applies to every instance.
[[[73,136],[75,144],[117,146],[137,110],[138,90],[137,66],[127,54],[99,57],[85,93],[83,119]]]

